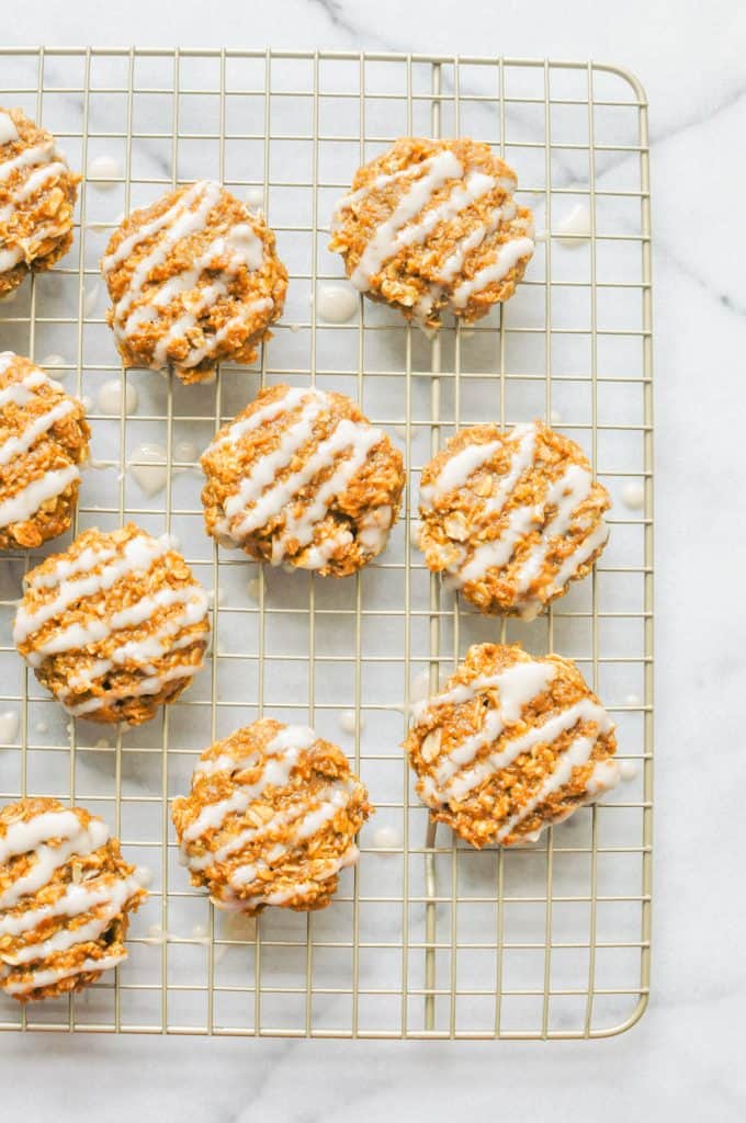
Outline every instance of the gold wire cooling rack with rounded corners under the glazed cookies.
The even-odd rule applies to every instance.
[[[40,120],[88,172],[73,249],[0,303],[1,347],[90,399],[94,460],[75,530],[127,518],[167,528],[213,591],[208,668],[162,716],[117,732],[67,723],[25,670],[11,620],[39,555],[0,566],[0,797],[80,803],[153,870],[116,975],[64,1002],[21,1010],[2,999],[0,1028],[538,1039],[633,1025],[648,994],[653,739],[639,83],[595,63],[27,48],[2,53],[0,104]],[[342,275],[326,249],[334,202],[360,163],[403,134],[490,141],[547,231],[503,309],[433,341],[371,303],[348,323],[317,312],[320,289]],[[98,259],[121,212],[202,176],[265,209],[291,275],[282,322],[261,364],[224,365],[213,385],[122,374]],[[112,416],[99,394],[119,378],[137,405]],[[199,451],[261,384],[281,380],[351,394],[406,451],[403,517],[356,578],[261,572],[203,533]],[[500,622],[470,611],[422,565],[412,544],[418,475],[458,426],[534,417],[584,446],[615,501],[611,539],[593,577],[548,614]],[[615,715],[621,758],[637,765],[621,789],[521,850],[477,852],[428,830],[399,748],[411,702],[488,639],[574,658]],[[179,867],[170,800],[204,746],[262,714],[310,722],[342,743],[377,813],[327,910],[236,922],[213,913]]]

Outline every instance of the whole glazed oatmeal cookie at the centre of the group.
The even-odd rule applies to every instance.
[[[207,531],[258,560],[345,577],[397,519],[404,469],[344,394],[272,386],[202,456]]]

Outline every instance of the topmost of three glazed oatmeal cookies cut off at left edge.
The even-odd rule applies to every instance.
[[[49,133],[0,109],[0,298],[67,253],[80,181]]]

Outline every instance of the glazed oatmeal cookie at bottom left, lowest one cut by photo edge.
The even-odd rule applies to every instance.
[[[127,958],[146,897],[106,824],[56,800],[0,810],[0,989],[19,1002],[82,990]]]

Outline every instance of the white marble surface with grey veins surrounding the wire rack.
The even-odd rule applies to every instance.
[[[90,1037],[0,1042],[8,1119],[717,1119],[746,1112],[740,631],[746,595],[746,9],[736,0],[25,0],[10,43],[503,53],[612,61],[652,116],[657,405],[654,997],[609,1041],[377,1044]],[[726,499],[727,496],[727,499]],[[718,593],[712,606],[712,591]],[[742,784],[739,785],[739,780]]]

